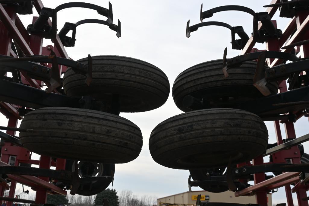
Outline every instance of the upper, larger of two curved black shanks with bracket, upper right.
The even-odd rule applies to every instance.
[[[263,43],[267,37],[279,37],[282,35],[282,31],[280,29],[276,29],[273,23],[270,20],[270,16],[268,12],[255,12],[252,9],[245,6],[238,5],[227,5],[227,6],[218,6],[213,9],[202,11],[203,4],[201,5],[200,19],[201,22],[203,19],[210,18],[214,13],[218,13],[221,11],[243,11],[253,16],[253,41]],[[258,22],[261,22],[264,29],[258,30]]]

